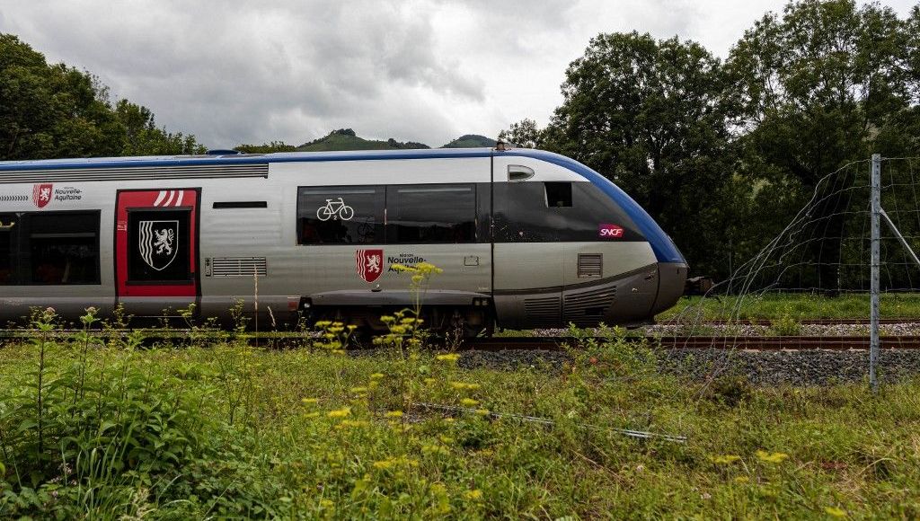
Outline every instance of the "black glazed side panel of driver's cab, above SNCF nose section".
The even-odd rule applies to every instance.
[[[590,182],[497,182],[494,191],[497,242],[596,241],[601,225],[623,227],[619,240],[641,239],[623,210]]]

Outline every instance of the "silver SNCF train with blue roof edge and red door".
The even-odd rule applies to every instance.
[[[342,318],[412,301],[431,327],[630,324],[672,307],[687,263],[611,181],[531,149],[0,162],[0,320]]]

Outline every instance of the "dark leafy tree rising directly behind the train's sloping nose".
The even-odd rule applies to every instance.
[[[697,272],[724,274],[728,228],[744,206],[733,202],[727,87],[719,60],[695,42],[602,34],[569,65],[543,145],[621,185]]]

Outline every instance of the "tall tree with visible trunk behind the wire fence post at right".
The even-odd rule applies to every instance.
[[[796,205],[823,176],[868,157],[877,138],[902,132],[912,89],[903,29],[890,8],[877,4],[803,0],[744,33],[727,63],[740,109],[743,173],[786,187],[765,190],[763,208]],[[838,280],[846,196],[823,198],[813,215],[824,226],[812,249],[818,269],[810,282],[817,287]],[[786,201],[777,204],[776,197]]]

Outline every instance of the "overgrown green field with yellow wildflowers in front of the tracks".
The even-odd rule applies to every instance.
[[[616,338],[514,371],[42,339],[0,348],[0,517],[920,516],[920,381],[692,383]]]

